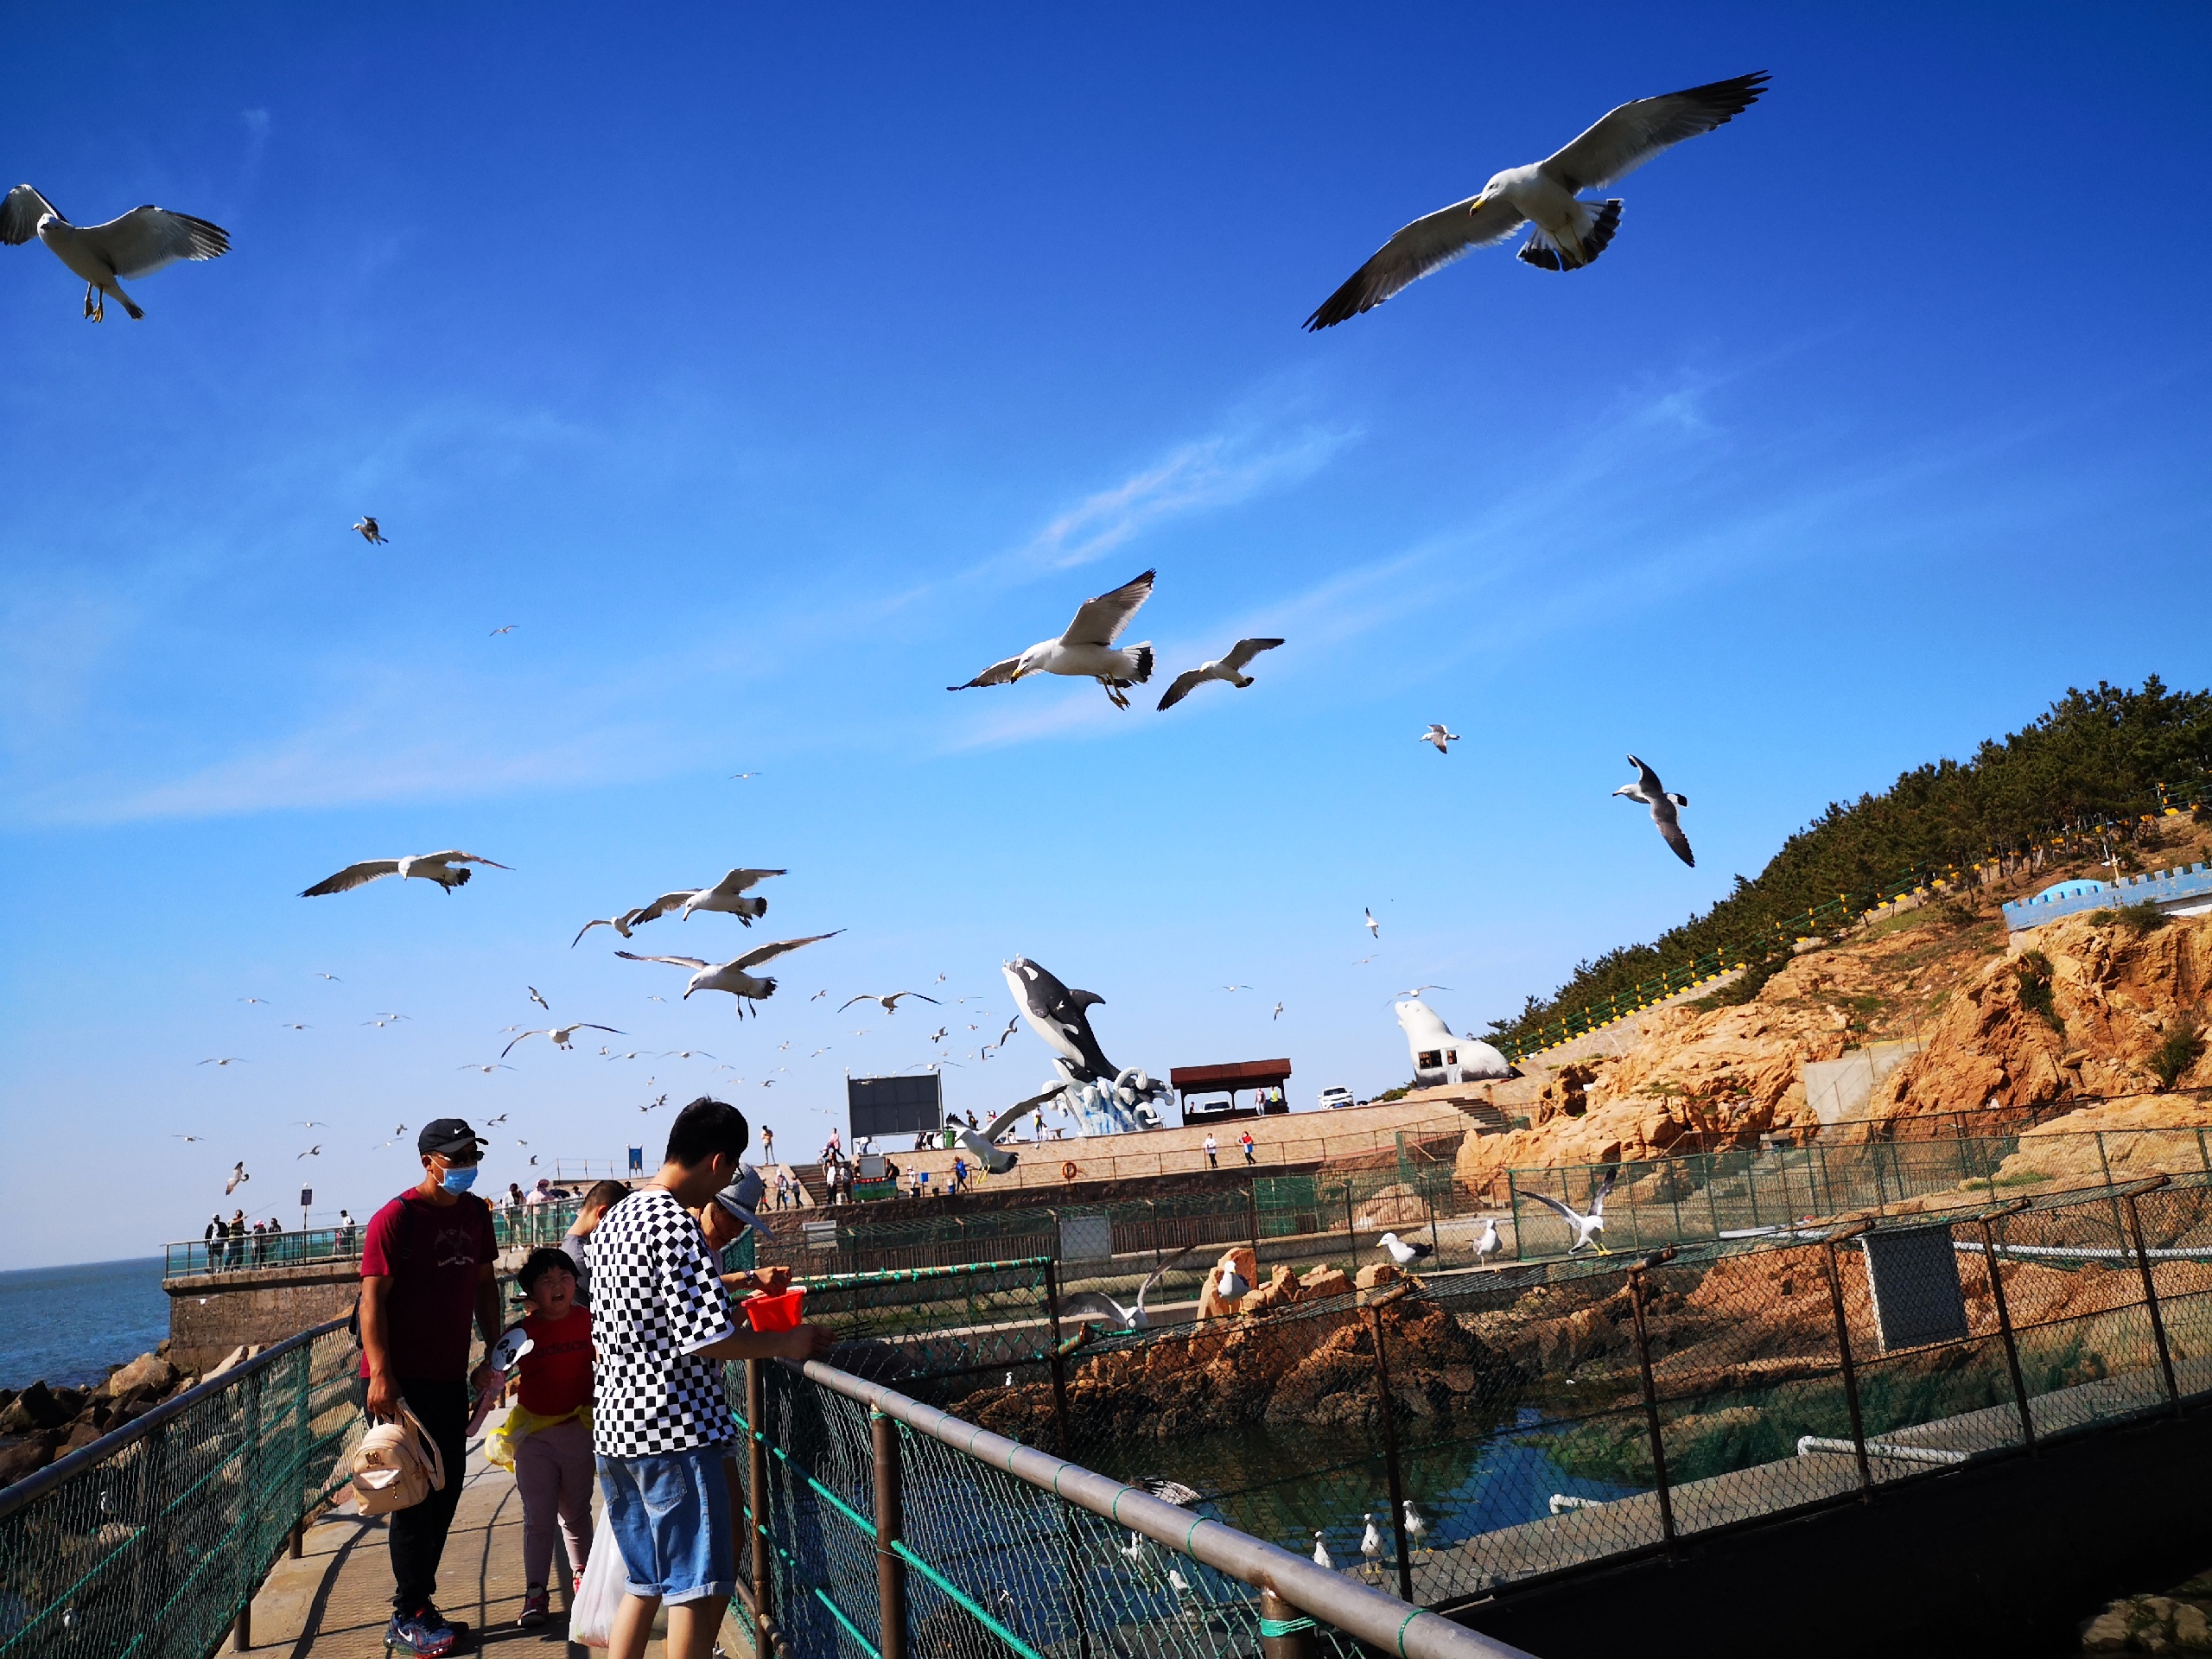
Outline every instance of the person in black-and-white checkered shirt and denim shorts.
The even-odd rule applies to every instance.
[[[593,1239],[593,1449],[628,1588],[611,1659],[641,1659],[664,1601],[668,1659],[714,1650],[737,1588],[723,1475],[737,1429],[721,1360],[810,1360],[830,1349],[821,1325],[745,1332],[730,1318],[714,1250],[690,1212],[739,1179],[748,1139],[734,1106],[695,1099],[668,1130],[659,1175],[608,1210]]]

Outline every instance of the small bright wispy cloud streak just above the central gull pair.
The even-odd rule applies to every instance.
[[[1243,429],[1186,442],[1060,513],[1031,538],[1022,557],[1055,571],[1088,564],[1161,520],[1296,484],[1349,438],[1349,431],[1301,427],[1292,434]]]

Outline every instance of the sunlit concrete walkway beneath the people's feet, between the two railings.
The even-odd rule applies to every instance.
[[[604,1648],[568,1641],[568,1577],[553,1548],[553,1617],[524,1630],[522,1615],[522,1495],[513,1478],[469,1451],[469,1475],[453,1515],[438,1571],[438,1608],[469,1624],[456,1652],[531,1659],[604,1659]],[[307,1526],[301,1559],[281,1559],[254,1595],[252,1652],[281,1659],[383,1659],[392,1619],[392,1562],[385,1555],[385,1517],[363,1517],[341,1504]],[[750,1652],[730,1639],[726,1652]],[[223,1652],[239,1652],[226,1646]],[[646,1648],[661,1657],[659,1637]]]

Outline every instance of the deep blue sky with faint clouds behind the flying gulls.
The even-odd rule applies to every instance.
[[[312,1170],[358,1214],[438,1113],[509,1113],[500,1183],[657,1146],[661,1091],[814,1146],[938,1024],[836,1002],[945,973],[995,1026],[1013,953],[1117,1064],[1383,1088],[1394,989],[1480,1029],[2068,684],[2212,679],[2201,9],[1190,11],[11,20],[15,177],[234,252],[88,327],[0,250],[9,1265],[197,1232],[241,1157],[257,1212]],[[1590,270],[1298,330],[1402,221],[1750,69]],[[1283,635],[1254,688],[945,692],[1148,566],[1161,681]],[[296,898],[436,847],[513,872]],[[847,929],[757,1024],[568,947],[739,863],[792,872],[768,936]],[[655,1060],[460,1071],[524,984]],[[1022,1033],[949,1097],[1044,1073]]]

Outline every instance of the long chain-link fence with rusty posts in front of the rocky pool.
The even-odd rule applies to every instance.
[[[1371,1292],[1314,1270],[1245,1307],[1062,1318],[1057,1365],[936,1398],[1449,1604],[2212,1389],[2212,1183]]]

